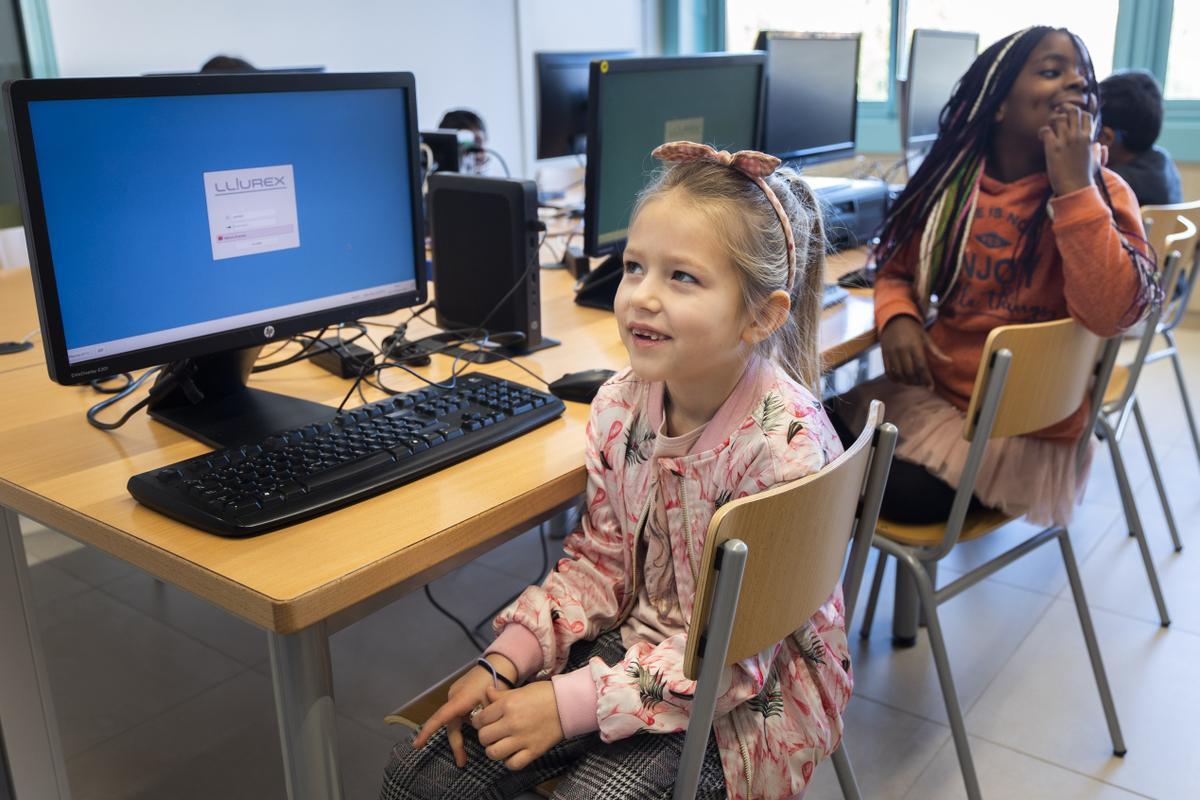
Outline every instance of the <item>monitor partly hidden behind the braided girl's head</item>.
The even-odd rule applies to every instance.
[[[954,86],[979,50],[979,35],[918,28],[908,50],[908,78],[901,97],[900,136],[908,150],[937,139],[938,118]]]

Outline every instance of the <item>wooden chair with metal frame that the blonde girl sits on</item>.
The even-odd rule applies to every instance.
[[[696,796],[721,673],[803,627],[836,585],[852,542],[844,584],[850,622],[895,439],[883,405],[871,403],[863,433],[832,464],[713,515],[684,657],[696,692],[674,800]],[[842,794],[859,798],[844,746],[833,764]]]

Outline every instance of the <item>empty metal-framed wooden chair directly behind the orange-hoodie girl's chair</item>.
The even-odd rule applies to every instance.
[[[1187,234],[1192,240],[1195,239],[1195,225],[1190,225],[1190,233]],[[1168,236],[1163,242],[1165,247],[1174,247],[1175,240]],[[1180,273],[1180,267],[1182,260],[1180,258],[1178,249],[1171,249],[1165,257],[1164,272],[1162,273],[1162,285],[1164,295],[1170,295],[1177,285],[1177,278]],[[1175,515],[1171,511],[1171,504],[1166,498],[1166,487],[1163,485],[1163,476],[1158,469],[1158,458],[1154,456],[1153,445],[1150,441],[1150,434],[1146,431],[1146,422],[1141,415],[1141,408],[1138,405],[1138,379],[1141,375],[1141,368],[1150,363],[1148,353],[1153,345],[1154,337],[1162,326],[1163,315],[1169,313],[1170,306],[1164,302],[1160,308],[1153,309],[1146,318],[1145,325],[1140,338],[1138,339],[1138,350],[1133,360],[1127,365],[1116,365],[1112,368],[1112,377],[1109,380],[1106,391],[1104,392],[1104,403],[1100,408],[1100,414],[1096,420],[1096,433],[1103,439],[1109,446],[1109,455],[1112,457],[1112,471],[1117,480],[1117,492],[1121,495],[1121,509],[1124,512],[1126,524],[1129,527],[1129,535],[1138,540],[1138,548],[1141,552],[1141,560],[1146,567],[1146,577],[1150,581],[1150,589],[1154,596],[1154,604],[1158,608],[1158,619],[1163,627],[1171,624],[1171,616],[1166,610],[1166,600],[1163,597],[1163,589],[1158,582],[1158,569],[1154,566],[1154,559],[1151,555],[1150,546],[1146,542],[1146,531],[1141,524],[1141,515],[1138,512],[1138,503],[1134,497],[1133,485],[1129,482],[1129,475],[1126,470],[1124,455],[1121,451],[1121,439],[1124,435],[1126,427],[1129,420],[1134,421],[1138,427],[1138,435],[1141,438],[1141,446],[1146,451],[1146,461],[1150,464],[1150,474],[1154,479],[1154,488],[1158,491],[1158,500],[1163,505],[1163,516],[1166,518],[1166,529],[1171,535],[1171,542],[1175,545],[1175,552],[1178,553],[1183,549],[1183,542],[1180,539],[1180,531],[1175,525]],[[1184,395],[1184,397],[1187,397]]]

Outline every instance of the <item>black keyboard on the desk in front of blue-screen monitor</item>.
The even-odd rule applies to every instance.
[[[491,375],[460,375],[134,475],[128,491],[168,517],[221,536],[253,536],[415,481],[563,413],[563,401]]]

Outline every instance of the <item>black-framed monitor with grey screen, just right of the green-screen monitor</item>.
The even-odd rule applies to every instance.
[[[760,31],[767,50],[762,150],[818,163],[854,155],[862,34]]]

